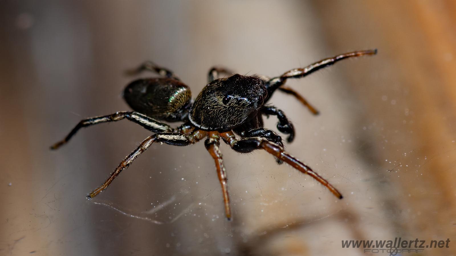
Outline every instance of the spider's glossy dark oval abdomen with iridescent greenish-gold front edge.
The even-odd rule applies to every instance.
[[[191,98],[190,88],[171,78],[135,80],[124,90],[124,99],[133,110],[168,122],[187,116]]]

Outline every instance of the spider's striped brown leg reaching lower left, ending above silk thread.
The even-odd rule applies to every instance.
[[[181,133],[156,133],[147,137],[138,148],[136,148],[133,152],[131,152],[122,162],[120,162],[119,166],[114,170],[114,172],[109,176],[106,181],[99,186],[97,189],[94,189],[92,192],[87,194],[87,199],[92,199],[96,195],[100,194],[104,189],[108,188],[109,184],[120,174],[120,172],[124,169],[127,169],[128,166],[135,161],[135,159],[144,151],[146,151],[150,145],[155,142],[163,142],[169,145],[174,146],[188,146],[190,144],[196,143],[200,141],[202,138],[206,136],[206,132],[204,131],[195,131],[190,133],[189,135],[184,135]]]

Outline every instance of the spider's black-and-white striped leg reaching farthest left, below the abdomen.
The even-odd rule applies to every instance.
[[[156,121],[155,119],[147,117],[146,115],[143,115],[141,113],[121,111],[121,112],[116,112],[112,115],[100,116],[100,117],[94,117],[94,118],[88,118],[88,119],[81,120],[76,125],[76,127],[74,127],[70,133],[68,133],[67,137],[65,137],[63,140],[52,145],[51,149],[60,148],[63,144],[67,143],[70,140],[70,138],[73,137],[73,135],[78,132],[78,130],[80,128],[91,126],[91,125],[98,124],[98,123],[115,122],[115,121],[122,120],[124,118],[127,118],[128,120],[130,120],[134,123],[137,123],[140,126],[146,128],[149,131],[154,132],[154,133],[172,131],[171,127],[169,125],[167,125],[166,123],[160,123],[160,122]]]

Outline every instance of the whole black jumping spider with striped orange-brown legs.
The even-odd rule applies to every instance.
[[[354,51],[313,63],[304,68],[292,69],[280,77],[265,78],[257,76],[231,75],[218,78],[219,73],[232,74],[223,68],[212,68],[208,74],[208,84],[202,89],[195,101],[191,101],[191,92],[187,85],[180,82],[170,70],[158,67],[152,62],[145,62],[131,73],[149,70],[160,74],[161,78],[139,79],[131,82],[124,90],[125,101],[135,112],[116,112],[107,116],[88,118],[78,125],[65,137],[52,145],[57,149],[82,127],[97,123],[118,121],[124,118],[141,125],[155,133],[146,138],[138,148],[131,152],[115,169],[111,176],[97,189],[87,195],[92,199],[114,180],[119,173],[126,169],[141,153],[153,143],[166,143],[176,146],[187,146],[206,138],[205,146],[215,161],[218,179],[222,186],[225,214],[231,218],[227,176],[220,152],[220,138],[233,150],[249,153],[256,149],[264,149],[275,156],[276,161],[290,164],[302,173],[309,174],[318,182],[325,185],[334,195],[342,195],[320,175],[300,160],[285,152],[282,138],[272,130],[263,127],[262,115],[274,115],[278,119],[277,129],[288,134],[287,141],[291,142],[295,129],[285,114],[266,102],[275,92],[280,90],[288,93],[302,102],[313,114],[318,114],[298,92],[285,87],[288,78],[301,78],[337,61],[356,56],[373,55],[377,50]],[[167,122],[181,121],[183,124],[171,128]],[[235,134],[238,134],[236,136]]]

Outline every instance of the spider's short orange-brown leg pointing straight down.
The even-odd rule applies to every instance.
[[[218,132],[208,132],[207,139],[204,142],[207,151],[211,154],[215,161],[215,167],[217,168],[217,175],[220,184],[222,185],[223,202],[225,203],[225,215],[227,219],[231,219],[231,210],[229,207],[229,195],[227,188],[227,174],[225,167],[223,166],[222,153],[220,152],[220,135]]]

